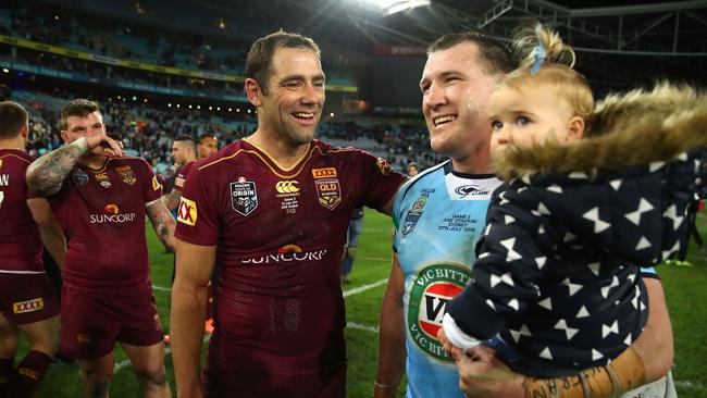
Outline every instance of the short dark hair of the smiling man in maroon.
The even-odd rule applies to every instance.
[[[302,48],[312,50],[321,59],[319,46],[309,37],[277,30],[256,40],[248,51],[246,61],[246,77],[252,78],[260,85],[263,94],[268,94],[268,80],[273,73],[273,55],[280,48]]]

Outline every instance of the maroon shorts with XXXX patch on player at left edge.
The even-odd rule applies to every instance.
[[[15,325],[59,314],[59,300],[47,274],[0,273],[0,312]]]

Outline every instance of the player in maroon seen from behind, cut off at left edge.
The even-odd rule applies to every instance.
[[[28,191],[27,112],[0,102],[0,397],[32,397],[59,347],[59,301],[41,262],[41,240],[61,265],[64,236],[46,199]],[[36,223],[35,223],[36,222]],[[37,228],[39,225],[39,229]],[[41,236],[41,240],[40,240]],[[29,352],[15,368],[18,331]]]

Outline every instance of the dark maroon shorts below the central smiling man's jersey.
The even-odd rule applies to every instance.
[[[346,395],[346,362],[296,374],[248,373],[238,371],[239,363],[230,360],[227,351],[227,344],[216,329],[211,336],[203,370],[204,398],[344,398]]]

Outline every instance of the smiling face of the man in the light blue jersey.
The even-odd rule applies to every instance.
[[[488,152],[487,102],[500,75],[487,74],[479,57],[479,47],[466,41],[427,58],[422,113],[437,153],[464,159]]]

